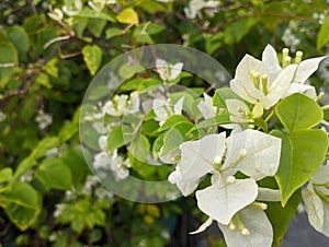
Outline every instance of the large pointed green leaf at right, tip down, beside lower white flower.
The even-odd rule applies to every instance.
[[[281,190],[282,205],[300,188],[325,161],[328,137],[322,130],[298,130],[291,134],[274,130],[281,138],[281,160],[275,179]]]

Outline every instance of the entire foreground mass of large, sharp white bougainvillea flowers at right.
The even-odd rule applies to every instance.
[[[183,196],[191,195],[203,178],[211,175],[211,186],[195,192],[198,209],[209,219],[191,234],[204,231],[216,221],[228,246],[246,246],[246,243],[249,243],[248,246],[272,245],[272,225],[263,212],[266,204],[259,201],[281,201],[281,192],[259,187],[257,181],[276,174],[281,139],[246,128],[241,124],[252,124],[262,117],[264,110],[293,93],[317,101],[315,89],[306,81],[325,57],[302,61],[300,51],[296,52],[294,60],[288,52],[288,49],[283,49],[281,64],[270,45],[265,47],[262,60],[246,55],[230,81],[230,89],[245,102],[237,98],[225,102],[234,125],[223,127],[234,128],[235,131],[228,138],[222,132],[183,142],[174,153],[179,161],[168,180],[175,184]],[[197,108],[204,119],[225,110],[215,107],[213,98],[207,94],[204,94],[204,101],[198,103]],[[240,173],[246,178],[236,178]],[[317,198],[324,193],[329,195],[325,188],[329,183],[327,167],[322,174],[326,176],[322,175],[321,181],[317,177],[319,175],[315,175],[315,184],[304,190],[304,197],[306,208],[316,211],[322,207],[321,215],[316,215],[317,211],[310,213],[310,222],[314,222],[316,228],[329,234],[328,228],[325,228],[328,223],[324,222],[327,221],[329,207],[324,200],[320,203]]]

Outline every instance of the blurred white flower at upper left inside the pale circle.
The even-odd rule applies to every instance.
[[[103,113],[114,117],[123,116],[124,114],[135,114],[139,111],[139,95],[137,91],[131,95],[115,95],[112,101],[104,104]]]

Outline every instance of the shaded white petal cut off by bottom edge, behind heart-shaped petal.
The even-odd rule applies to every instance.
[[[261,209],[248,207],[239,212],[239,216],[249,235],[242,235],[238,228],[231,231],[228,225],[218,224],[228,247],[271,247],[272,225]]]

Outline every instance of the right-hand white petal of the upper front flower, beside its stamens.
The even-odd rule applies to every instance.
[[[272,82],[269,89],[269,94],[265,97],[266,101],[262,102],[263,107],[265,109],[269,109],[271,106],[276,104],[288,91],[296,68],[297,68],[296,64],[291,64],[286,67],[284,70],[280,72],[277,78],[275,78],[275,80]]]

